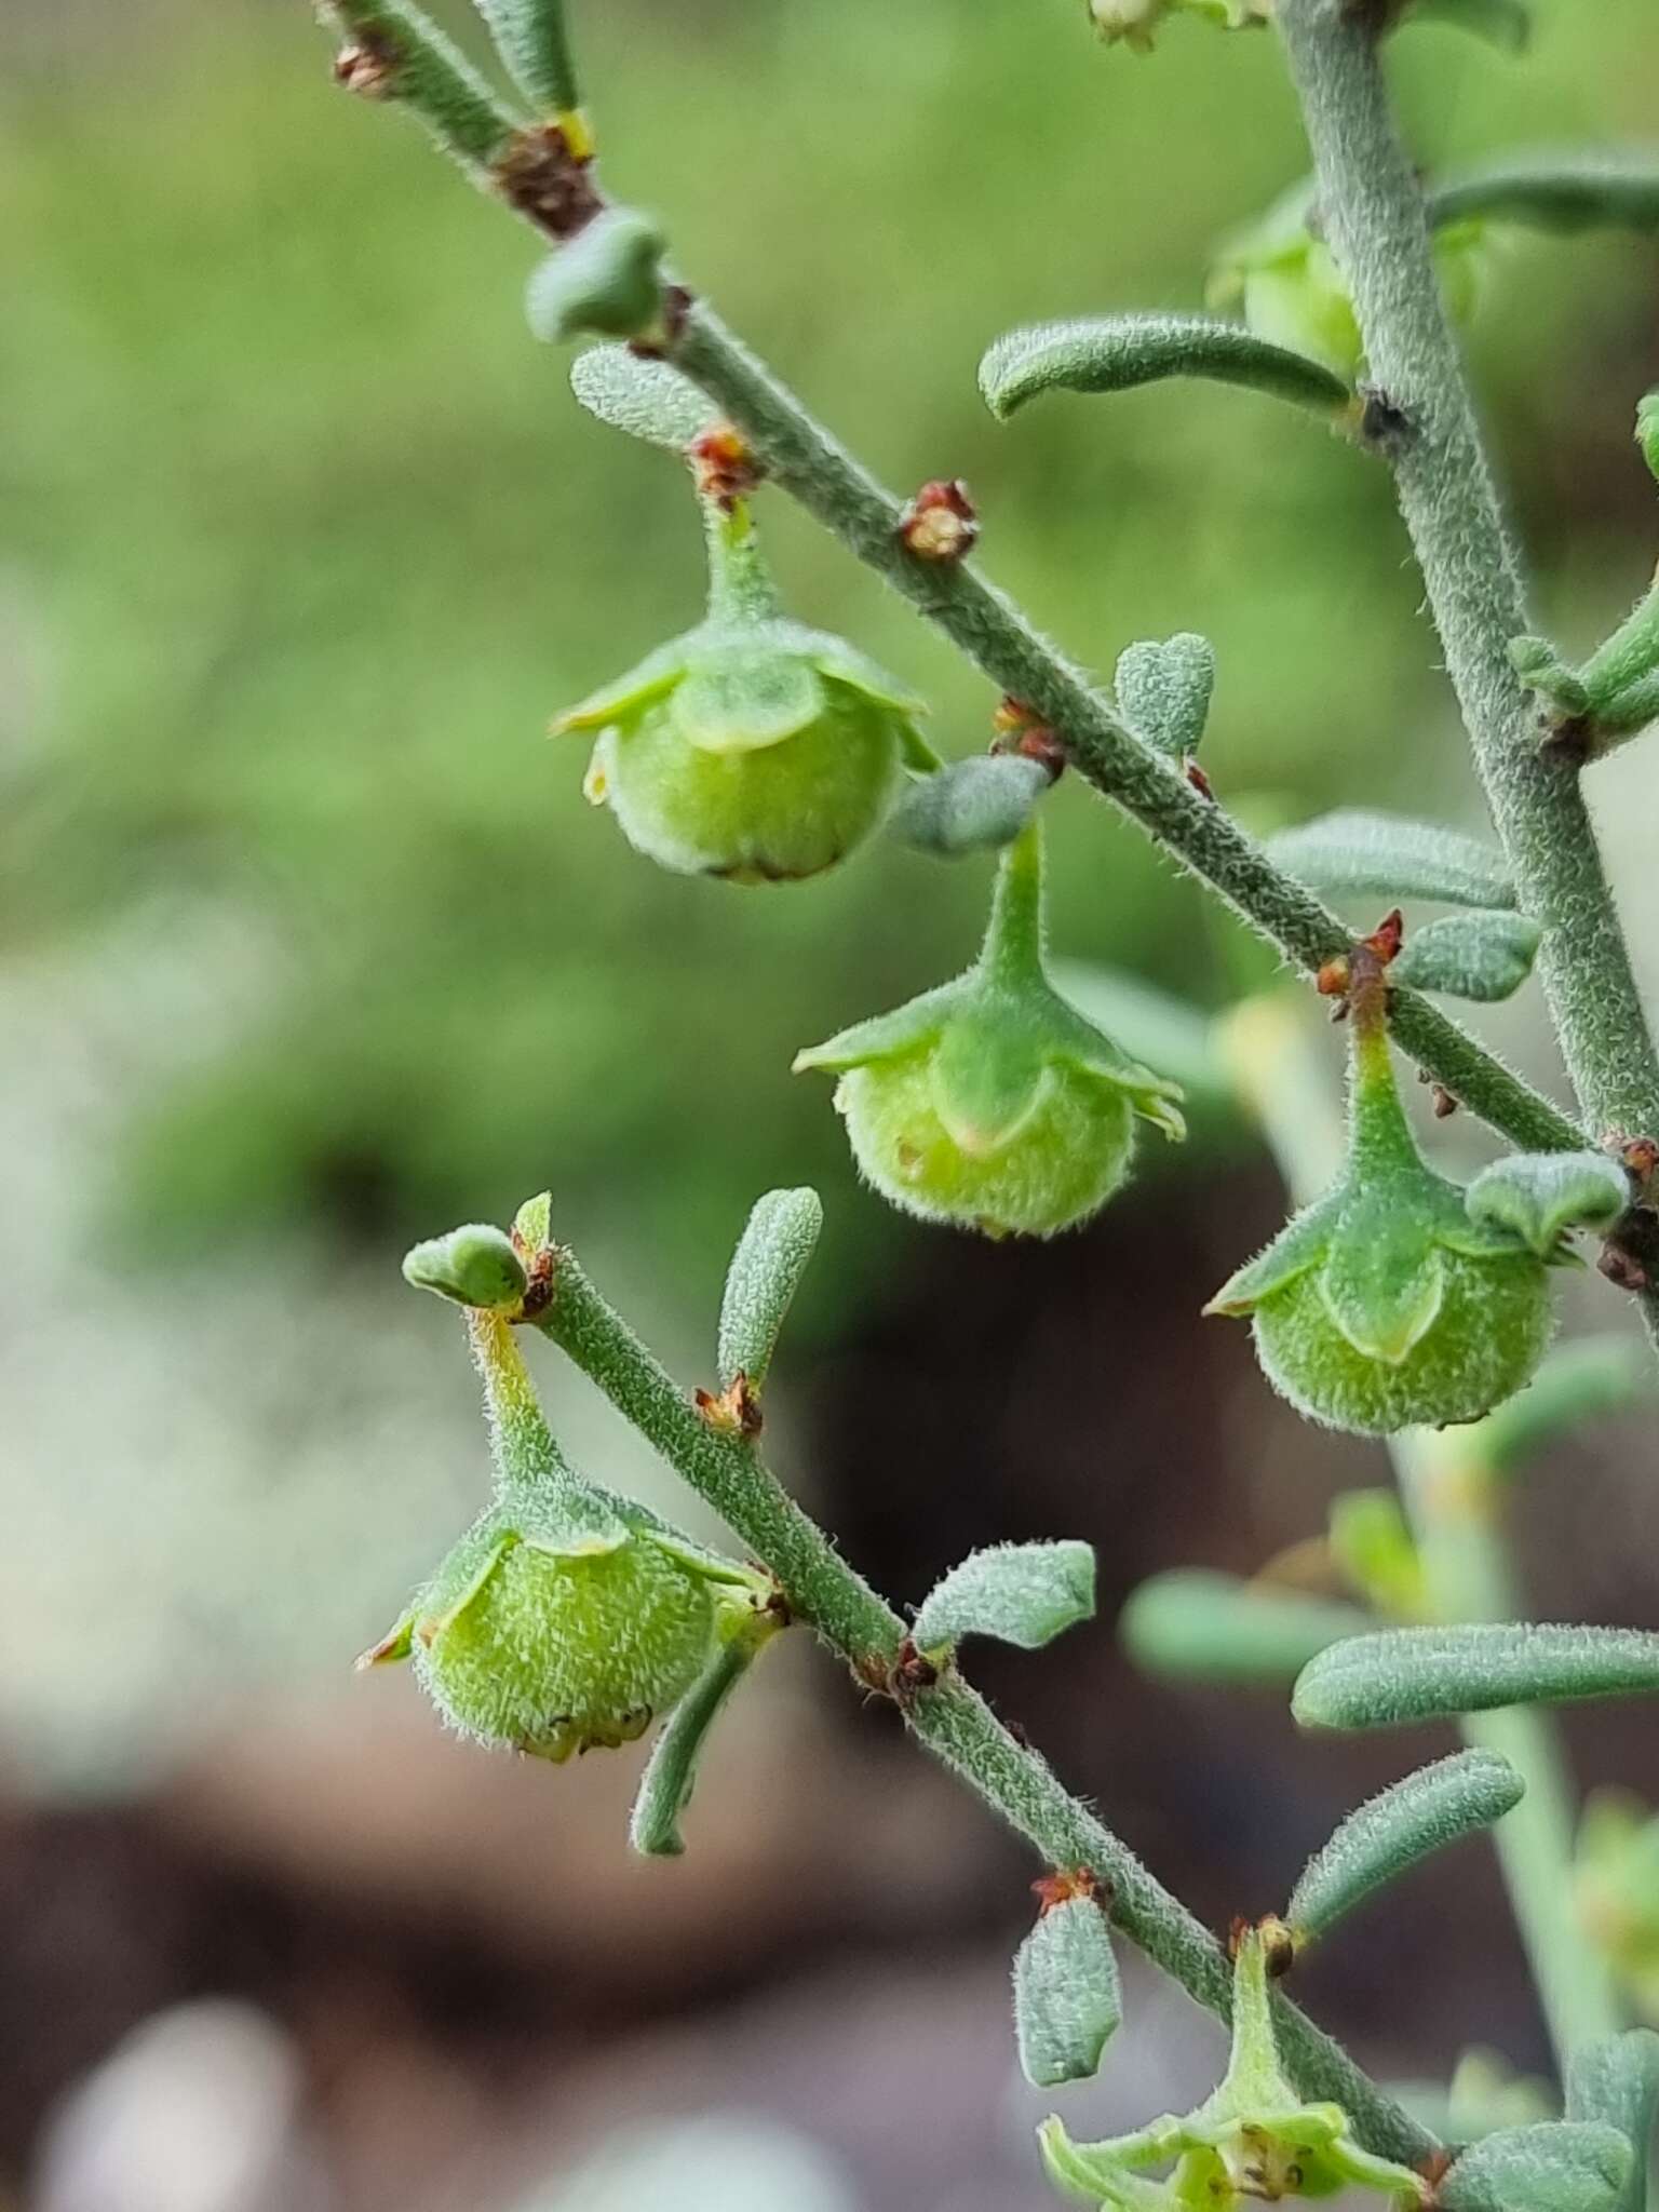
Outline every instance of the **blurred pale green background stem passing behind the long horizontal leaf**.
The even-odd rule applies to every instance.
[[[1480,1427],[1391,1438],[1389,1455],[1418,1537],[1429,1604],[1444,1621],[1524,1617],[1502,1526],[1500,1484],[1480,1458]],[[1553,1719],[1537,1705],[1469,1712],[1464,1743],[1502,1752],[1526,1796],[1493,1829],[1555,2062],[1626,2024],[1613,1978],[1573,1911],[1575,1790]]]

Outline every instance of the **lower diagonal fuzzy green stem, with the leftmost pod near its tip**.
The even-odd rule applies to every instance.
[[[790,1610],[872,1690],[891,1690],[905,1624],[841,1557],[750,1442],[710,1427],[566,1250],[555,1254],[553,1303],[535,1327],[591,1376],[617,1411],[668,1460],[739,1540],[776,1575]],[[1048,1763],[1009,1734],[951,1668],[938,1688],[902,1699],[916,1739],[962,1776],[1042,1856],[1086,1865],[1110,1882],[1117,1927],[1219,2020],[1230,2017],[1232,1973],[1214,1936],[1097,1814],[1071,1796]],[[1310,2099],[1340,2104],[1383,2157],[1420,2161],[1433,2137],[1387,2097],[1321,2028],[1279,1997],[1285,2066]]]

